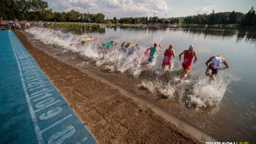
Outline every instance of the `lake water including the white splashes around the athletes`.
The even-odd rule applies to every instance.
[[[253,27],[177,27],[177,28],[141,28],[141,27],[84,27],[72,29],[58,29],[64,33],[71,32],[76,35],[88,35],[96,37],[102,35],[100,44],[116,40],[119,43],[132,41],[138,43],[142,50],[137,50],[134,56],[116,54],[110,58],[109,54],[98,54],[96,46],[88,45],[87,48],[78,50],[77,39],[61,39],[49,37],[49,32],[38,33],[30,29],[35,38],[44,43],[62,46],[67,50],[80,52],[83,56],[96,62],[96,65],[105,65],[106,69],[118,71],[127,76],[132,76],[140,81],[140,86],[157,90],[168,98],[179,101],[186,107],[192,107],[198,113],[207,112],[214,115],[213,118],[222,118],[232,126],[241,130],[249,137],[249,141],[255,142],[256,137],[256,29]],[[47,37],[45,37],[48,35]],[[131,65],[144,50],[154,43],[161,44],[163,51],[158,51],[155,62],[146,69],[139,70],[140,62]],[[161,78],[161,62],[163,52],[173,45],[176,57],[171,58],[173,71],[165,71],[165,78]],[[198,54],[196,64],[192,63],[190,75],[181,86],[177,86],[179,76],[177,71],[181,69],[179,54],[194,45]],[[117,46],[112,48],[112,54]],[[205,62],[211,56],[221,55],[230,65],[229,69],[220,70],[215,84],[208,84],[209,77],[205,76],[207,68]],[[183,57],[183,56],[182,56]],[[182,58],[183,59],[183,58]],[[147,60],[144,60],[147,62]],[[141,62],[141,63],[144,63]],[[169,90],[171,89],[171,90]],[[169,90],[169,91],[168,91]]]

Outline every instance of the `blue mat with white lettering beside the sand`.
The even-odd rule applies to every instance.
[[[1,143],[96,143],[12,31],[0,31]]]

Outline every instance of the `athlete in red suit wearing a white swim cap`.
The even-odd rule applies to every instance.
[[[196,63],[196,60],[198,60],[198,56],[196,56],[196,51],[193,50],[194,46],[190,45],[188,47],[188,50],[184,50],[181,54],[179,54],[180,60],[182,59],[181,56],[184,54],[184,61],[182,62],[182,67],[183,67],[183,75],[179,81],[181,83],[186,77],[188,77],[188,73],[190,73],[191,70],[191,63],[193,60],[193,57],[195,56],[194,63]]]

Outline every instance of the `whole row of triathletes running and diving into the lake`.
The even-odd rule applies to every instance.
[[[43,29],[43,31],[47,31],[46,29]],[[51,29],[49,29],[49,31],[53,31]],[[56,31],[53,31],[54,33],[57,33]],[[108,50],[110,50],[110,48],[112,48],[112,46],[114,45],[121,45],[120,48],[114,52],[110,57],[114,56],[114,54],[117,54],[119,52],[125,53],[127,51],[127,49],[129,47],[132,46],[131,50],[129,51],[129,55],[134,54],[135,50],[137,49],[142,49],[139,47],[139,44],[135,45],[135,43],[132,42],[127,42],[124,41],[123,43],[118,43],[117,41],[108,41],[107,43],[103,43],[102,45],[100,45],[98,43],[98,40],[102,39],[102,35],[100,35],[100,37],[87,37],[87,35],[84,36],[77,36],[77,35],[71,35],[71,33],[67,34],[67,35],[63,35],[62,33],[57,33],[57,35],[59,37],[63,36],[63,39],[67,39],[69,37],[75,37],[77,39],[79,39],[78,43],[72,43],[70,46],[72,45],[80,45],[80,48],[82,48],[83,45],[85,45],[85,43],[89,42],[89,43],[93,43],[93,45],[97,45],[99,48],[101,48],[102,50],[100,50],[100,52],[102,52],[102,54],[108,52]],[[150,47],[147,48],[146,51],[141,54],[137,59],[134,60],[133,63],[137,62],[138,60],[144,60],[144,58],[146,58],[146,56],[148,56],[148,54],[150,54],[150,56],[148,57],[148,63],[146,63],[145,65],[142,65],[140,67],[140,69],[142,69],[143,67],[146,67],[148,64],[152,63],[154,61],[154,57],[156,56],[156,53],[158,52],[158,50],[163,50],[163,48],[161,47],[161,45],[159,45],[160,48],[158,47],[158,44],[155,43],[154,47]],[[198,56],[196,55],[196,50],[194,50],[194,46],[190,45],[188,47],[188,50],[183,50],[183,52],[181,52],[181,54],[179,54],[179,60],[182,60],[181,56],[184,54],[184,61],[182,62],[182,67],[183,67],[183,72],[182,72],[182,77],[179,80],[179,83],[181,83],[184,79],[186,79],[186,77],[188,76],[188,73],[190,73],[191,70],[191,65],[192,65],[192,60],[194,59],[194,63],[196,63],[196,60],[198,60]],[[167,48],[164,52],[164,57],[163,57],[163,62],[161,65],[162,68],[162,73],[163,70],[165,69],[165,65],[169,65],[169,69],[171,68],[171,57],[175,57],[175,50],[173,50],[173,45],[169,45],[169,48]],[[224,63],[225,67],[220,68],[221,64]],[[210,81],[209,82],[214,82],[217,81],[216,80],[216,76],[218,74],[219,70],[222,69],[227,69],[229,67],[228,63],[226,62],[226,60],[224,58],[222,58],[221,56],[212,56],[211,58],[209,58],[209,60],[207,60],[207,62],[205,63],[207,65],[207,69],[205,71],[205,75],[210,77]]]

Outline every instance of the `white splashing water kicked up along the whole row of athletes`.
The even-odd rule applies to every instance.
[[[158,58],[158,54],[155,56],[155,60],[153,63],[150,63],[146,66],[146,68],[140,69],[140,65],[144,65],[146,60],[138,61],[133,63],[133,61],[142,54],[148,46],[141,46],[142,50],[137,50],[135,54],[128,56],[128,51],[126,53],[115,54],[111,57],[111,55],[118,50],[118,46],[113,46],[109,52],[102,54],[100,52],[100,48],[93,43],[85,43],[80,48],[80,45],[72,45],[71,43],[78,43],[79,39],[74,37],[70,37],[66,40],[63,40],[62,37],[56,37],[56,34],[50,31],[37,31],[34,29],[26,30],[29,33],[34,35],[35,39],[39,39],[42,43],[56,45],[63,49],[63,52],[77,52],[77,54],[83,56],[91,60],[91,62],[95,61],[95,65],[99,67],[100,65],[105,65],[104,69],[108,72],[117,72],[117,73],[129,73],[133,75],[133,77],[139,77],[140,73],[146,71],[146,73],[150,73],[155,75],[156,77],[161,77],[161,69],[156,65],[156,59]],[[84,34],[86,35],[86,34]],[[177,71],[182,69],[181,62],[179,60],[173,60],[173,65],[169,67],[165,67],[164,73],[167,71]],[[178,64],[178,67],[175,69],[174,65]],[[87,66],[89,62],[82,62],[77,64],[77,66]],[[232,78],[232,75],[227,75],[228,78]],[[234,81],[239,81],[237,77],[235,77]],[[228,85],[228,81],[224,79],[224,77],[218,77],[218,82],[213,84],[209,84],[209,79],[205,77],[200,77],[199,80],[190,80],[186,79],[180,85],[176,85],[175,82],[179,81],[178,77],[173,77],[168,80],[168,82],[163,81],[161,79],[148,79],[144,80],[138,86],[147,90],[148,92],[156,92],[161,96],[165,96],[165,98],[169,98],[171,100],[179,101],[188,107],[195,107],[198,110],[207,110],[212,109],[219,105],[221,99],[226,92],[226,86]]]

